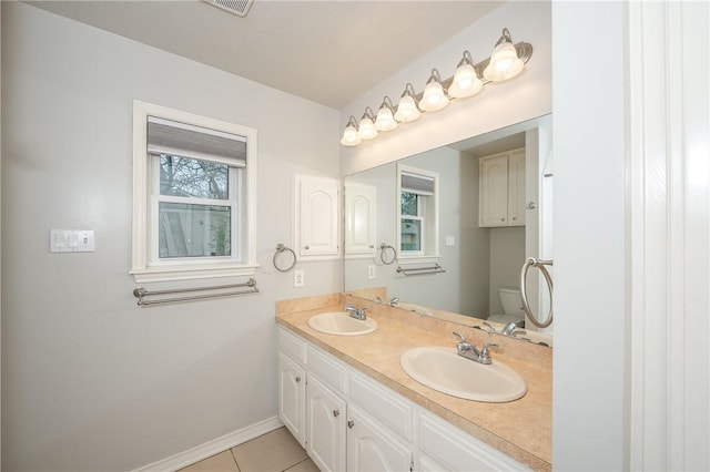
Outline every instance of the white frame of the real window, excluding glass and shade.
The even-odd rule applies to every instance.
[[[237,134],[246,138],[246,166],[235,170],[230,166],[230,184],[241,178],[243,187],[233,202],[231,226],[241,225],[239,234],[232,234],[231,256],[205,258],[175,258],[160,260],[158,257],[158,201],[160,175],[155,175],[155,162],[159,160],[148,152],[148,117],[155,116],[180,123]],[[146,102],[133,102],[133,214],[132,214],[132,268],[130,274],[136,283],[189,280],[214,277],[252,276],[256,271],[256,165],[257,133],[255,129],[225,121],[196,115],[189,112],[154,105]],[[202,157],[201,157],[202,158]],[[230,163],[229,158],[210,160]],[[160,165],[160,164],[158,164]],[[236,167],[236,166],[234,166]],[[236,176],[236,174],[241,174]],[[158,187],[156,187],[158,186]],[[244,187],[245,186],[245,187]],[[240,202],[239,199],[243,199]],[[165,201],[165,199],[163,199]],[[211,201],[222,206],[224,201]],[[195,198],[195,203],[196,198]],[[239,219],[237,219],[239,218]],[[154,240],[153,240],[154,239]]]

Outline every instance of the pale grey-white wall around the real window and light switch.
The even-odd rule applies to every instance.
[[[337,176],[338,114],[124,38],[2,2],[2,469],[128,470],[276,414],[276,299],[339,263],[272,266],[293,173]],[[139,308],[132,101],[258,130],[261,294]],[[50,228],[97,252],[49,254]]]

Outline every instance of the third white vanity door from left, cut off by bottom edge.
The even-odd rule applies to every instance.
[[[412,451],[354,404],[347,410],[347,470],[412,470]]]

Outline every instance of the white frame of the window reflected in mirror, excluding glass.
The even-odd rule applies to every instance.
[[[426,193],[410,192],[418,195],[417,197],[417,215],[404,215],[402,213],[402,175],[420,175],[434,181],[434,192],[429,195]],[[440,259],[439,255],[439,174],[435,171],[413,167],[408,165],[397,164],[397,230],[396,247],[397,260],[400,264],[420,264],[436,263]],[[407,192],[407,189],[404,189]],[[426,202],[422,197],[430,198]],[[403,250],[402,249],[402,222],[403,219],[415,219],[420,223],[420,250]]]

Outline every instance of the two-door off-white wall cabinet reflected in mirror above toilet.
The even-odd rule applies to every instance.
[[[525,225],[525,148],[478,158],[478,225]]]

